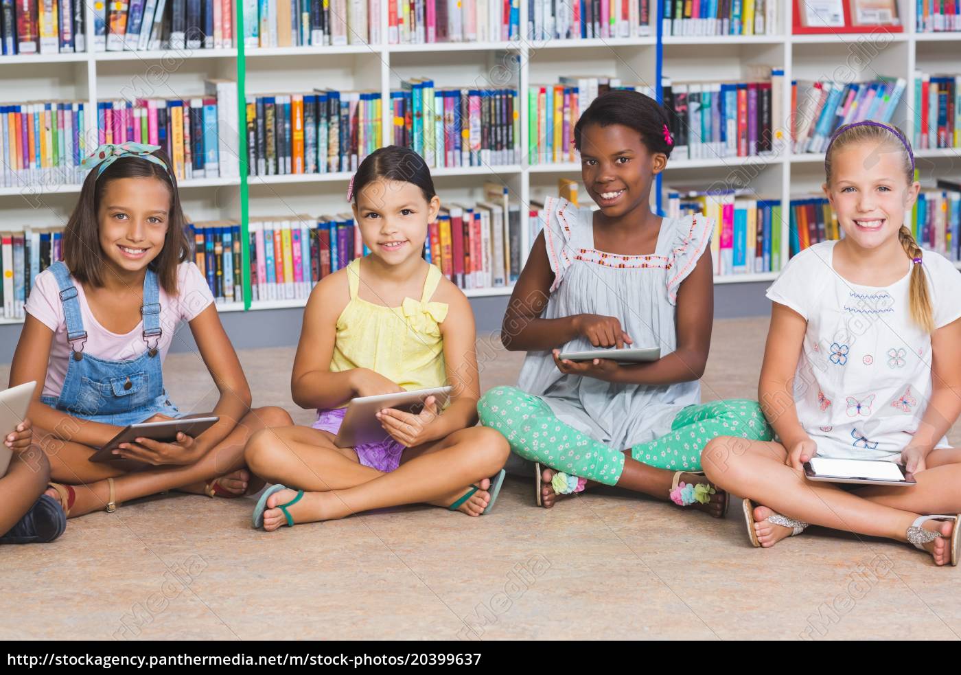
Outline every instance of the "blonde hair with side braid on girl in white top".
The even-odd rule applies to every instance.
[[[834,155],[839,150],[849,145],[872,142],[878,146],[883,145],[885,149],[891,148],[898,152],[904,178],[908,185],[914,183],[914,155],[911,153],[911,145],[900,129],[894,125],[882,125],[878,122],[862,122],[843,127],[827,146],[827,152],[825,153],[825,180],[827,185],[831,183],[831,165]],[[898,240],[901,248],[904,249],[904,253],[913,263],[911,287],[908,290],[911,318],[925,332],[932,333],[934,331],[934,316],[931,309],[931,295],[927,289],[924,265],[921,263],[924,252],[911,231],[903,224],[898,231]]]

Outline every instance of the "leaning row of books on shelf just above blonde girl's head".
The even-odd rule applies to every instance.
[[[823,153],[842,124],[874,119],[890,122],[907,87],[903,78],[843,84],[831,80],[792,83],[791,108],[796,153]]]

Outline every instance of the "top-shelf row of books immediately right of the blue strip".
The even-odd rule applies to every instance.
[[[780,4],[780,0],[664,0],[664,35],[775,34],[778,32]]]

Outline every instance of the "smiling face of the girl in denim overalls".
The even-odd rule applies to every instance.
[[[105,188],[97,209],[100,248],[117,271],[138,272],[163,249],[170,189],[156,178],[119,178]]]

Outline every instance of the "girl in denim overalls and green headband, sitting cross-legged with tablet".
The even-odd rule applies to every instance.
[[[170,161],[158,146],[130,142],[101,145],[83,166],[90,171],[63,233],[63,260],[37,275],[11,368],[11,385],[42,383],[29,416],[50,464],[46,494],[68,517],[169,489],[243,494],[247,437],[291,419],[251,408],[207,281],[189,260]],[[89,462],[130,424],[185,415],[161,367],[181,321],[220,392],[211,412],[219,421],[171,443],[123,443],[114,452],[127,462]]]

